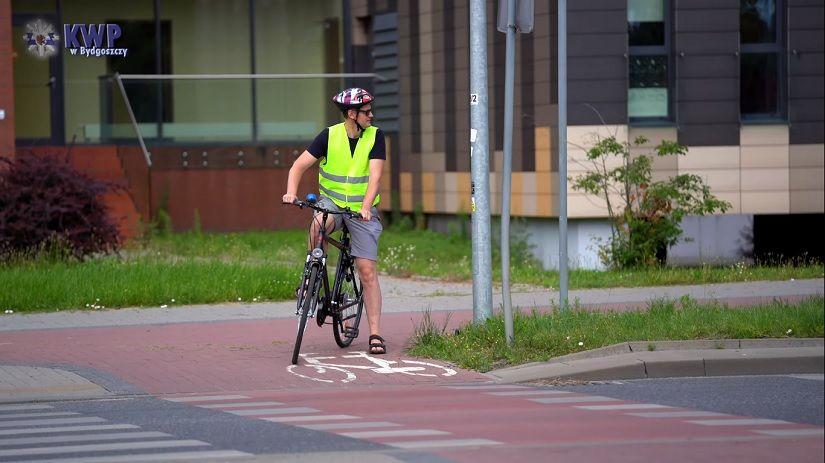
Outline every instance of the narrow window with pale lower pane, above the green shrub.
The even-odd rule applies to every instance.
[[[670,119],[670,53],[666,0],[630,0],[627,7],[631,121]]]

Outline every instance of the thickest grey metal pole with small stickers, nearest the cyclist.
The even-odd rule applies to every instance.
[[[487,119],[487,5],[470,0],[470,163],[473,210],[473,320],[493,314],[490,246],[490,128]]]

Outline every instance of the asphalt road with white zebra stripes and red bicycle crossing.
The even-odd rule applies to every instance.
[[[0,461],[819,462],[822,423],[822,375],[144,395],[0,406]]]

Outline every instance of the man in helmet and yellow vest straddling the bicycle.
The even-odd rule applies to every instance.
[[[383,227],[376,205],[378,186],[387,159],[384,134],[372,125],[373,96],[361,88],[349,88],[335,95],[333,103],[341,110],[344,122],[324,129],[289,169],[284,203],[296,201],[298,184],[304,172],[323,159],[318,172],[321,199],[318,205],[332,211],[349,209],[361,219],[336,214],[324,224],[328,233],[341,228],[342,221],[351,235],[351,254],[364,288],[364,304],[370,328],[369,353],[385,354],[387,347],[379,335],[381,287],[378,284],[378,238]],[[319,213],[310,227],[309,249],[320,239]]]

